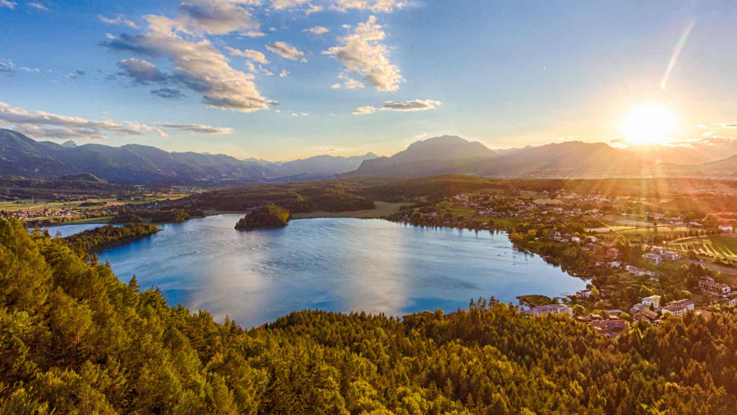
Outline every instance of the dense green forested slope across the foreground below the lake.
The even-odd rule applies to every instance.
[[[733,414],[737,317],[617,340],[486,301],[244,331],[0,219],[0,414]]]

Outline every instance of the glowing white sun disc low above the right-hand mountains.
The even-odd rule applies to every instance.
[[[676,116],[667,106],[635,106],[622,120],[621,134],[632,144],[665,143],[676,124]]]

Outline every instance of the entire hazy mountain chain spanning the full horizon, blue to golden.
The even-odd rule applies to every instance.
[[[367,153],[268,162],[224,154],[168,152],[137,144],[77,145],[70,140],[59,145],[0,129],[0,176],[53,179],[94,174],[122,184],[226,184],[447,173],[497,177],[733,176],[737,156],[717,160],[715,154],[731,156],[737,149],[733,150],[731,141],[719,145],[716,149],[714,144],[703,143],[621,149],[605,143],[569,141],[494,151],[478,141],[445,135],[412,143],[391,157]]]

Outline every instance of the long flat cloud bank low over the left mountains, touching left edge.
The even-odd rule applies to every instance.
[[[105,133],[139,135],[156,133],[161,137],[167,134],[161,128],[147,126],[138,121],[115,123],[111,120],[94,121],[83,117],[71,117],[43,111],[28,111],[20,107],[0,102],[0,123],[35,138],[107,138]]]

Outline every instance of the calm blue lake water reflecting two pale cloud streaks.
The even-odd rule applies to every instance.
[[[332,218],[237,231],[240,217],[164,224],[99,257],[122,281],[136,274],[144,289],[160,287],[172,305],[207,309],[220,321],[229,315],[245,327],[299,309],[453,312],[479,296],[516,303],[517,295],[585,286],[537,255],[515,251],[506,233]]]

